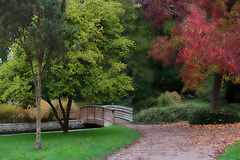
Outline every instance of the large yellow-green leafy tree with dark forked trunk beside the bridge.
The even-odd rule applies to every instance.
[[[62,59],[62,65],[49,70],[43,84],[44,98],[64,132],[68,132],[74,95],[103,104],[121,99],[133,90],[131,78],[124,72],[126,64],[121,62],[133,47],[132,41],[121,36],[119,15],[123,12],[121,4],[112,1],[68,1],[67,20],[78,29],[69,43],[76,45]],[[61,97],[68,98],[67,108],[62,106]],[[63,122],[51,103],[54,98],[59,100]]]

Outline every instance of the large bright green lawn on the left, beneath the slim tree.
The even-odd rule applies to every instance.
[[[0,136],[1,160],[82,160],[106,157],[138,139],[138,131],[114,125],[104,128],[42,133],[42,149],[35,134]]]

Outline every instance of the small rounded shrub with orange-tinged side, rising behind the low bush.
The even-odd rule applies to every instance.
[[[181,97],[176,91],[166,91],[164,94],[161,94],[161,96],[157,98],[157,102],[159,107],[167,107],[174,104],[181,104]]]

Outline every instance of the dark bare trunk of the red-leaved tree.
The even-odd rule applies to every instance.
[[[211,98],[211,102],[210,102],[210,107],[212,109],[217,108],[218,101],[219,101],[219,95],[220,95],[220,89],[221,89],[221,83],[222,83],[222,75],[216,74],[214,76],[212,98]]]

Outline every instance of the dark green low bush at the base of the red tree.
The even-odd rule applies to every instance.
[[[188,117],[190,124],[223,124],[234,123],[240,120],[239,114],[230,110],[213,110],[198,108],[193,110]]]

